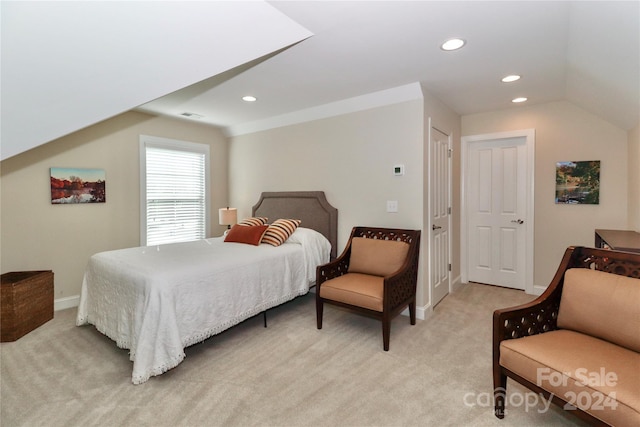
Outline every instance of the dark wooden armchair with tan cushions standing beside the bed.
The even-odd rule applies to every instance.
[[[382,321],[389,350],[391,320],[409,308],[416,323],[420,230],[354,227],[342,254],[316,270],[316,316],[322,329],[324,304]]]

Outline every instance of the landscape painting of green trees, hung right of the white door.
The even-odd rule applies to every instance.
[[[556,203],[600,204],[600,160],[556,163]]]

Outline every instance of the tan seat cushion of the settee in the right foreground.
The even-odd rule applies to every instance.
[[[640,354],[634,351],[557,330],[503,341],[500,365],[611,425],[640,425]],[[615,402],[604,400],[611,393]]]

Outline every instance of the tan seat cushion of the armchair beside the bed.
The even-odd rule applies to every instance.
[[[322,298],[380,312],[383,309],[383,292],[383,277],[361,273],[347,273],[320,286]]]

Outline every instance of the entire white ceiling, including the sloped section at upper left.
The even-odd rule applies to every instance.
[[[133,108],[233,135],[415,82],[460,115],[567,100],[631,129],[640,2],[2,2],[3,159]]]

